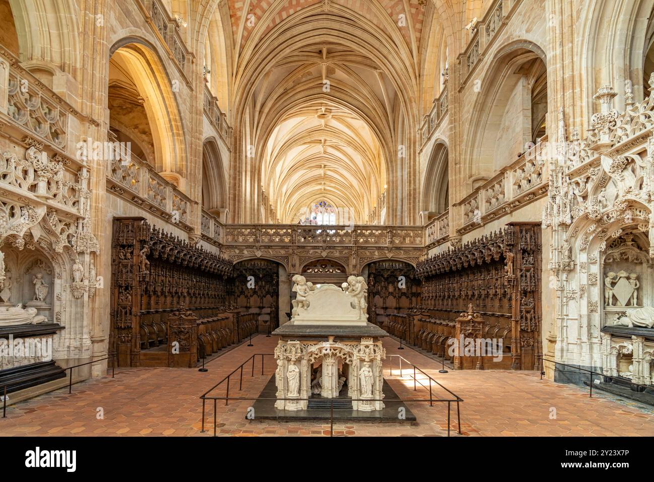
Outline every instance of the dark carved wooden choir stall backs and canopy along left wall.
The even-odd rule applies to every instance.
[[[231,272],[230,261],[141,217],[114,219],[109,354],[118,366],[170,365],[169,316],[181,306],[226,311]]]

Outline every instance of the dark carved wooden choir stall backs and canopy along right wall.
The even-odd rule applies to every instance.
[[[421,309],[428,316],[425,320],[453,321],[472,304],[474,311],[483,315],[484,337],[499,334],[504,346],[510,347],[511,368],[539,369],[540,230],[540,223],[509,223],[500,232],[418,263]],[[423,333],[429,331],[424,326],[421,329]],[[416,341],[420,337],[416,333],[412,343],[426,346],[424,339]]]

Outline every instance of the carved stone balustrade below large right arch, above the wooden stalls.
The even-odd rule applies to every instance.
[[[457,232],[472,231],[506,213],[525,206],[547,194],[547,159],[550,145],[547,136],[523,153],[513,164],[477,187],[458,205],[462,207],[462,226]]]

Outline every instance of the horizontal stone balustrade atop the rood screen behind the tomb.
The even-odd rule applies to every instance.
[[[422,226],[307,226],[284,224],[224,225],[226,245],[266,246],[420,246],[424,244]]]

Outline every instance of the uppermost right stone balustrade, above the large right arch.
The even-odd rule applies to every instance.
[[[475,70],[475,67],[477,67],[477,64],[484,58],[487,50],[500,36],[500,33],[504,30],[504,27],[521,2],[522,0],[495,0],[483,18],[477,22],[468,46],[458,56],[458,63],[460,65],[459,90],[468,83],[468,79]]]

